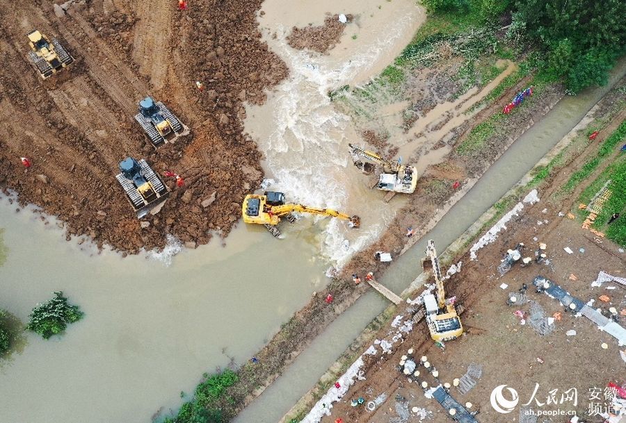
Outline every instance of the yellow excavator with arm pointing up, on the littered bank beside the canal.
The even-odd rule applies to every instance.
[[[441,269],[435,251],[435,241],[428,240],[426,247],[426,257],[422,259],[422,269],[424,264],[430,261],[433,266],[435,285],[437,286],[437,298],[435,295],[424,295],[424,308],[426,309],[426,323],[431,338],[435,341],[449,341],[458,338],[463,333],[463,326],[456,313],[454,301],[446,300],[446,292],[443,287]]]

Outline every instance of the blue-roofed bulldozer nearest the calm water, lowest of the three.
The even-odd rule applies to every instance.
[[[145,160],[127,157],[120,162],[120,173],[115,176],[128,201],[133,206],[137,218],[147,213],[153,215],[161,210],[170,192],[161,178],[148,166]]]

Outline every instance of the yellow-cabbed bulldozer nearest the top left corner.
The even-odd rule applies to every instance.
[[[29,51],[29,57],[42,78],[49,78],[74,61],[70,53],[67,53],[55,38],[50,41],[36,29],[29,33],[28,37],[33,50]]]

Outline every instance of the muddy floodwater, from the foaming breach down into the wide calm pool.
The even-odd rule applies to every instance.
[[[177,408],[179,393],[193,392],[203,372],[227,365],[231,357],[236,363],[248,360],[312,292],[326,285],[329,259],[340,265],[383,230],[393,210],[383,209],[383,194],[366,189],[351,165],[346,144],[355,131],[326,97],[333,82],[355,83],[380,72],[421,22],[412,0],[394,0],[393,6],[385,2],[381,10],[376,8],[380,13],[373,4],[349,1],[350,10],[338,10],[328,1],[317,3],[314,16],[320,23],[326,11],[362,13],[361,23],[378,28],[379,34],[353,24],[358,39],[346,33],[351,47],[345,56],[338,48],[339,56],[314,60],[317,73],[296,54],[300,62],[287,62],[302,84],[285,81],[271,103],[249,113],[262,119],[276,107],[297,121],[268,121],[266,128],[280,131],[272,135],[264,135],[259,126],[251,129],[266,149],[266,165],[277,188],[311,206],[362,215],[360,231],[348,231],[345,222],[306,218],[289,225],[285,239],[275,240],[262,228],[240,225],[226,247],[211,242],[184,250],[173,260],[170,254],[122,259],[110,251],[97,254],[77,240],[65,242],[56,222],[44,224],[30,210],[16,213],[15,203],[0,197],[6,246],[6,251],[0,247],[0,308],[26,322],[35,304],[63,290],[85,312],[63,338],[42,340],[29,333],[25,346],[0,361],[1,423],[150,422],[161,406]],[[283,5],[290,6],[285,10],[298,9]],[[404,16],[401,25],[392,7]],[[286,18],[284,24],[290,28],[297,22]],[[380,39],[383,24],[394,26],[394,38]],[[371,46],[376,51],[369,51]],[[367,63],[351,64],[364,53]],[[333,79],[331,69],[343,69],[341,77]],[[305,90],[294,109],[284,102],[285,87]],[[298,131],[304,138],[289,138]],[[283,135],[290,144],[274,147]],[[318,145],[310,144],[314,138],[319,138]],[[323,153],[314,154],[317,149]],[[303,160],[304,152],[312,160]],[[321,174],[328,179],[319,179]],[[342,191],[344,185],[356,188]],[[178,247],[172,244],[168,251]],[[163,265],[170,261],[170,267]]]

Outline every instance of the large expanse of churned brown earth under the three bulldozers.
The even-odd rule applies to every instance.
[[[187,10],[163,3],[169,19],[153,3],[75,2],[58,16],[51,3],[26,1],[0,11],[0,188],[60,217],[68,236],[131,253],[162,247],[168,233],[191,247],[211,231],[230,231],[263,176],[261,154],[243,135],[242,103],[262,103],[264,88],[287,76],[257,31],[260,0]],[[58,78],[42,81],[29,62],[33,28],[76,59]],[[154,150],[133,119],[146,95],[166,103],[191,135]],[[144,219],[149,225],[115,181],[127,156],[184,179],[182,187],[165,179],[172,194]]]

